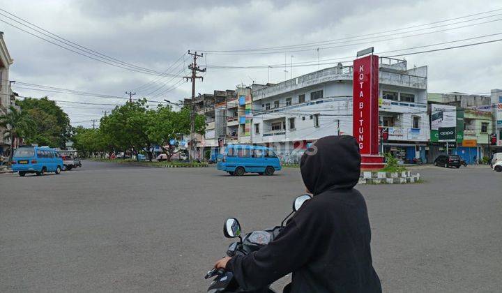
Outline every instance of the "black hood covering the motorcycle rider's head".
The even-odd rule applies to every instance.
[[[326,136],[303,153],[300,163],[305,187],[313,195],[328,189],[349,189],[360,176],[360,154],[350,135]]]

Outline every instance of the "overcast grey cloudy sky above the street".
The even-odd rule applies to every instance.
[[[291,77],[291,56],[292,75],[298,76],[317,70],[318,59],[324,63],[320,68],[335,66],[337,61],[350,60],[356,51],[370,46],[376,52],[387,52],[464,40],[381,54],[389,56],[502,38],[502,10],[498,10],[502,3],[497,1],[3,0],[0,8],[72,41],[77,46],[70,47],[72,50],[82,53],[82,47],[78,47],[82,45],[93,50],[86,51],[89,57],[103,61],[100,54],[105,54],[105,62],[114,64],[64,50],[20,31],[5,22],[58,43],[0,10],[0,20],[4,21],[0,22],[0,31],[14,59],[10,80],[122,98],[132,90],[137,93],[135,98],[147,96],[152,100],[177,101],[190,96],[190,84],[180,77],[188,75],[190,60],[183,55],[187,50],[206,52],[199,63],[208,70],[196,91],[212,93],[253,81],[282,82],[285,75]],[[494,11],[487,13],[489,10]],[[291,45],[301,46],[284,48]],[[245,51],[226,52],[232,50]],[[429,66],[429,92],[486,93],[502,87],[500,52],[502,42],[404,58],[409,67]],[[298,66],[301,64],[309,66]],[[246,66],[261,68],[242,68]],[[169,76],[158,76],[164,72]],[[20,96],[81,103],[124,101],[23,87],[27,88],[18,83],[15,88]],[[102,111],[112,108],[59,105],[75,126],[91,126],[89,120],[99,119]]]

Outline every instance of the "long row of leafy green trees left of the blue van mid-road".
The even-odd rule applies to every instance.
[[[197,115],[195,131],[203,134],[205,125],[204,116]],[[139,100],[115,107],[102,117],[98,129],[75,128],[74,133],[75,149],[82,153],[130,151],[137,156],[145,152],[151,160],[152,149],[158,145],[171,158],[176,151],[169,142],[190,133],[190,110],[176,112],[170,106],[154,110],[146,100]]]

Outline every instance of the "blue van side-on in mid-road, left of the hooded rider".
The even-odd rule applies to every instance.
[[[268,147],[233,144],[218,156],[216,168],[234,176],[244,173],[273,175],[281,170],[280,160]]]

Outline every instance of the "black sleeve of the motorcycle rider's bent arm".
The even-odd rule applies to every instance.
[[[236,255],[227,269],[244,290],[256,290],[303,266],[313,253],[312,239],[301,232],[296,217],[267,246],[249,255]],[[298,225],[299,224],[299,225]]]

